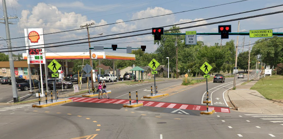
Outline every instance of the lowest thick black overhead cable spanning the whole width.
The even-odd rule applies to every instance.
[[[241,18],[223,20],[223,21],[218,21],[218,22],[212,22],[212,23],[207,23],[207,24],[200,24],[200,25],[182,27],[182,28],[177,28],[177,29],[169,29],[169,30],[165,30],[165,31],[173,31],[173,30],[194,28],[194,27],[200,27],[200,26],[207,26],[207,25],[213,25],[213,24],[218,24],[218,23],[225,23],[225,22],[231,22],[231,21],[237,21],[237,20],[244,20],[244,19],[250,19],[250,18],[255,18],[255,17],[261,17],[261,16],[273,15],[273,14],[278,14],[278,13],[283,13],[283,10],[281,10],[281,11],[276,11],[276,12],[264,13],[264,14],[258,14],[258,15],[253,15],[253,16],[247,16],[247,17],[241,17]],[[129,36],[122,36],[122,37],[115,37],[115,38],[108,38],[108,39],[102,39],[102,40],[87,41],[87,42],[79,42],[79,43],[72,43],[72,44],[62,44],[62,45],[55,45],[55,46],[46,46],[46,47],[44,47],[44,48],[53,48],[53,47],[60,47],[60,46],[67,46],[67,45],[84,44],[84,43],[91,43],[91,42],[100,42],[100,41],[107,41],[107,40],[114,40],[114,39],[121,39],[121,38],[128,38],[128,37],[135,37],[135,36],[148,35],[148,34],[151,34],[151,32],[149,32],[149,33],[135,34],[135,35],[129,35]],[[46,45],[46,44],[45,44],[45,45]],[[23,47],[34,47],[34,46],[23,46]],[[17,48],[21,48],[21,47],[17,47]],[[23,51],[23,50],[29,50],[29,49],[20,49],[20,50],[11,50],[11,51],[1,51],[0,53],[4,53],[4,52],[16,52],[16,51]]]

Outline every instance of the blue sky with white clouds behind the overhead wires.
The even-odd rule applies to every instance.
[[[117,33],[136,31],[142,29],[150,29],[152,27],[160,27],[165,25],[174,25],[182,22],[195,21],[200,19],[207,19],[211,17],[238,13],[247,10],[264,8],[283,4],[282,0],[247,0],[238,3],[221,5],[216,7],[198,9],[188,12],[170,14],[166,16],[154,17],[149,19],[136,20],[132,22],[123,22],[133,19],[140,19],[144,17],[157,16],[168,13],[175,13],[185,10],[197,9],[207,6],[235,2],[240,0],[6,0],[6,7],[8,16],[17,15],[17,19],[9,19],[10,38],[24,37],[24,28],[43,28],[43,33],[53,33],[44,35],[44,43],[58,43],[62,41],[71,41],[76,39],[87,39],[87,30],[81,29],[80,25],[86,23],[94,23],[92,28],[89,28],[91,37],[112,35]],[[0,0],[0,15],[3,16],[2,0]],[[223,18],[205,20],[195,23],[178,25],[180,27],[188,27],[193,25],[212,23],[228,19],[235,19],[251,15],[258,15],[263,13],[275,12],[282,10],[281,7],[265,9],[235,16],[228,16]],[[283,13],[256,17],[252,19],[240,20],[239,31],[249,31],[258,29],[273,29],[273,32],[283,32]],[[3,17],[2,17],[3,18]],[[1,20],[3,21],[3,20]],[[106,25],[102,27],[95,27],[99,25],[111,24],[116,22],[123,22],[113,25]],[[189,29],[182,29],[185,31],[197,31],[197,33],[213,33],[218,32],[218,25],[232,25],[232,32],[237,32],[238,21],[226,22],[221,24],[213,24]],[[79,29],[76,31],[68,31]],[[169,29],[166,27],[164,29]],[[6,39],[5,26],[0,23],[0,37]],[[60,31],[67,31],[63,33],[55,33]],[[111,37],[102,37],[91,39],[100,40],[113,37],[121,37],[126,35],[134,35],[140,33],[148,33],[151,30],[141,31],[137,33],[128,33],[123,35],[114,35]],[[229,39],[223,39],[222,44],[225,44],[231,39],[237,40],[237,36],[230,35]],[[249,36],[239,36],[239,49],[245,45],[254,43],[259,38],[250,38]],[[111,48],[112,44],[117,44],[118,48],[132,48],[145,45],[145,52],[151,53],[156,50],[157,45],[153,44],[153,37],[151,34],[136,37],[129,37],[123,39],[107,40],[100,42],[93,42],[91,46],[104,46]],[[77,42],[86,42],[87,40],[58,43],[71,44]],[[137,42],[141,41],[141,42]],[[221,41],[220,35],[203,36],[198,35],[197,41],[203,41],[206,45],[211,46]],[[25,46],[24,38],[12,39],[12,47]],[[51,46],[51,45],[47,45]],[[252,47],[253,45],[251,45]],[[247,51],[249,46],[244,47]],[[18,48],[18,50],[24,48]],[[0,52],[7,50],[7,44],[0,38]],[[46,48],[45,51],[49,53],[55,52],[88,52],[88,44],[68,45],[56,48]],[[107,52],[115,52],[113,50],[105,50]],[[239,50],[241,52],[242,50]],[[13,52],[14,54],[25,53],[25,51]],[[116,53],[126,53],[124,49],[117,49]],[[7,53],[5,53],[7,54]]]

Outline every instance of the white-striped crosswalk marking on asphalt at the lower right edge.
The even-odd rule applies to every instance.
[[[283,125],[283,115],[267,115],[267,114],[245,114],[254,118],[260,118],[262,120],[268,120],[272,123],[280,123]]]

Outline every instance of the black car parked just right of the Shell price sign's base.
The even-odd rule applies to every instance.
[[[48,90],[53,89],[53,83],[54,83],[54,78],[47,79]],[[73,87],[73,82],[56,78],[56,88],[62,88],[62,84],[63,84],[64,89]],[[43,82],[43,86],[44,88],[46,88],[46,82]]]

